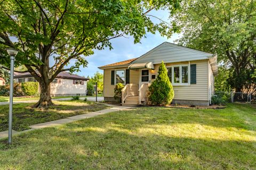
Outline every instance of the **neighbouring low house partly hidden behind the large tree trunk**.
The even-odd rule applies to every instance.
[[[61,72],[51,82],[51,96],[86,96],[87,92],[87,78],[79,75],[70,74],[68,72]],[[36,81],[29,73],[14,73],[15,82]],[[39,91],[38,91],[39,92]]]

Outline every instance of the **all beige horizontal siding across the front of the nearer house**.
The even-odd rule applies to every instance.
[[[166,63],[166,66],[188,64],[189,62]],[[208,64],[209,60],[191,61],[190,64],[196,64],[196,84],[190,86],[173,86],[174,99],[179,100],[209,100],[209,84],[208,84]],[[159,64],[154,65],[155,70],[152,74],[157,75]],[[122,69],[122,68],[116,68]],[[111,70],[104,70],[104,97],[114,96],[114,85],[111,85]],[[139,69],[130,70],[130,83],[139,84]]]

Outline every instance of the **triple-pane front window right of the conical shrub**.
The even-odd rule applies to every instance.
[[[167,67],[167,74],[173,85],[188,85],[188,65]]]

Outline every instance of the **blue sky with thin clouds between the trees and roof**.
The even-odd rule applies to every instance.
[[[169,21],[169,12],[167,10],[152,11],[150,14],[155,15],[164,21]],[[157,22],[157,19],[152,18],[152,20],[153,22]],[[110,42],[112,43],[113,49],[94,50],[93,55],[85,57],[89,62],[87,67],[81,67],[81,72],[75,74],[85,77],[89,75],[92,77],[97,71],[103,73],[102,70],[98,69],[99,66],[139,57],[147,53],[150,49],[162,44],[164,41],[173,43],[179,36],[180,35],[175,33],[170,39],[167,39],[166,37],[162,37],[159,33],[156,33],[155,35],[147,33],[146,38],[142,38],[141,43],[138,44],[133,43],[133,37],[119,37],[112,39]]]

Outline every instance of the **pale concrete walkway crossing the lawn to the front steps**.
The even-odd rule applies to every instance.
[[[17,134],[25,133],[25,132],[28,132],[28,131],[33,131],[33,130],[36,130],[36,129],[42,129],[42,128],[48,128],[48,127],[52,127],[52,126],[62,125],[62,124],[66,124],[66,123],[70,123],[70,122],[74,122],[74,121],[78,121],[78,120],[83,120],[85,118],[90,118],[90,117],[95,117],[95,116],[98,116],[98,115],[103,115],[103,114],[110,113],[110,112],[124,111],[124,110],[130,109],[130,108],[134,108],[134,107],[116,106],[116,105],[110,105],[110,104],[104,104],[104,105],[110,106],[111,108],[103,109],[103,110],[97,111],[97,112],[91,112],[91,113],[87,113],[87,114],[62,118],[62,119],[57,120],[57,121],[34,124],[34,125],[29,126],[31,128],[29,130],[20,131],[20,132],[17,132],[17,131],[13,130],[12,134],[17,135]],[[0,132],[0,139],[1,138],[7,138],[7,137],[8,137],[8,131]]]

